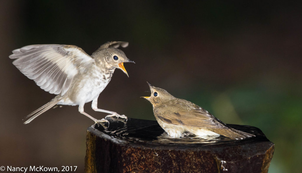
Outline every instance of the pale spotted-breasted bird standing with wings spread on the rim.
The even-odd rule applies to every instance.
[[[65,44],[36,44],[15,49],[9,56],[13,64],[43,90],[56,94],[50,102],[27,115],[24,124],[55,105],[79,106],[79,112],[96,124],[108,122],[106,118],[127,116],[98,108],[98,96],[110,82],[115,69],[128,77],[124,63],[129,60],[118,47],[127,47],[128,42],[109,41],[102,44],[89,56],[82,48]],[[105,119],[95,119],[84,112],[84,104],[92,101],[92,109],[109,113]],[[23,119],[23,120],[24,120]],[[102,124],[103,125],[103,124]]]

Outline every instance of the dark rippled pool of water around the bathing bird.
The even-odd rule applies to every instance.
[[[192,134],[185,134],[184,138],[169,137],[167,133],[158,125],[156,121],[131,119],[129,118],[127,123],[123,121],[110,121],[108,129],[104,129],[101,126],[95,126],[100,132],[111,136],[111,139],[119,143],[135,143],[144,145],[169,145],[169,146],[183,146],[183,145],[238,145],[238,143],[246,143],[253,141],[266,141],[265,135],[260,129],[252,126],[232,125],[230,127],[248,132],[256,135],[256,137],[247,138],[243,140],[233,140],[225,136],[207,136],[198,137]]]

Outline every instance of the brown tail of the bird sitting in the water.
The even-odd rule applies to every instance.
[[[255,135],[252,135],[250,133],[242,132],[240,130],[236,130],[233,128],[228,129],[209,129],[212,132],[218,133],[220,135],[226,136],[231,139],[245,139],[254,137]]]

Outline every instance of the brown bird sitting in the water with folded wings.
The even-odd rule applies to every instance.
[[[236,140],[255,136],[233,129],[204,108],[188,100],[176,98],[166,90],[147,83],[151,96],[142,98],[152,104],[153,113],[159,126],[171,137],[181,138],[187,132],[201,137],[223,135]]]

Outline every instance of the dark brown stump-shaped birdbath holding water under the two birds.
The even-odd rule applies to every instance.
[[[86,136],[85,172],[268,172],[274,143],[252,126],[230,127],[256,135],[171,138],[156,121],[110,121]]]

